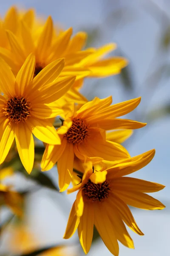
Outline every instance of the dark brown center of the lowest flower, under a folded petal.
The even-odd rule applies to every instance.
[[[95,184],[91,182],[91,180],[88,180],[88,183],[85,184],[85,186],[83,187],[83,190],[88,201],[101,202],[101,201],[104,201],[105,198],[108,198],[110,184],[108,183],[107,180],[105,180],[103,183],[98,183],[98,184]]]

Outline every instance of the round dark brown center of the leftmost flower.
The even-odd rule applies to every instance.
[[[10,121],[18,123],[24,122],[30,116],[31,104],[23,97],[13,97],[8,99],[6,105],[3,108],[3,112]]]

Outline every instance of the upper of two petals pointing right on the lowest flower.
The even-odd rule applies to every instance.
[[[140,180],[132,177],[119,177],[113,180],[113,191],[123,190],[131,192],[151,193],[164,189],[164,185],[159,183]]]

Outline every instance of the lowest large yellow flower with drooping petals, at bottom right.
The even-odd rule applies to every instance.
[[[145,193],[159,191],[164,186],[124,176],[146,166],[154,154],[155,150],[150,150],[136,157],[115,161],[111,168],[102,168],[100,171],[96,171],[95,166],[92,168],[92,163],[88,162],[82,182],[68,189],[68,193],[77,190],[78,193],[64,238],[70,238],[78,229],[80,243],[87,254],[95,225],[113,255],[119,255],[117,240],[129,248],[134,248],[125,224],[140,236],[144,234],[137,226],[127,204],[141,209],[163,209],[165,206],[161,202]]]

